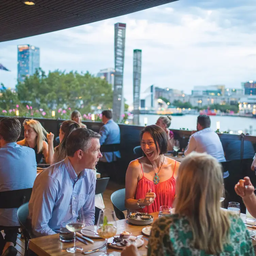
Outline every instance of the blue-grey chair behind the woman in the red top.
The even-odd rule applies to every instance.
[[[111,202],[114,207],[115,215],[118,220],[124,220],[125,214],[123,211],[127,210],[125,207],[125,189],[119,189],[112,193]]]

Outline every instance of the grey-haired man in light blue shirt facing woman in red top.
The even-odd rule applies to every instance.
[[[66,141],[67,157],[39,174],[29,201],[32,236],[55,234],[62,221],[85,213],[84,224],[94,225],[96,177],[93,172],[100,157],[100,135],[78,128]]]

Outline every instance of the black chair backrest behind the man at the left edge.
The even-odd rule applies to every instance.
[[[0,192],[0,209],[18,208],[29,202],[32,188]]]

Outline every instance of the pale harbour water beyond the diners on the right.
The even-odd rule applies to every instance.
[[[196,130],[196,119],[198,115],[172,116],[170,129],[189,129]],[[140,115],[140,124],[144,125],[144,118],[147,117],[147,125],[155,124],[160,115]],[[216,122],[220,121],[220,131],[232,131],[238,134],[238,131],[250,133],[256,136],[256,118],[239,116],[210,116],[211,127],[216,130]]]

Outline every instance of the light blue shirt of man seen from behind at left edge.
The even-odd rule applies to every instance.
[[[32,188],[36,178],[35,151],[16,142],[0,148],[0,192]],[[18,208],[0,209],[1,226],[20,226]]]

